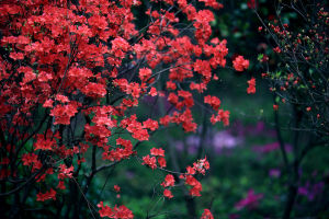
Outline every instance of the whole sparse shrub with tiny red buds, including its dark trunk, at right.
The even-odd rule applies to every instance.
[[[249,7],[262,24],[259,32],[271,39],[273,48],[272,53],[260,54],[258,60],[265,71],[262,78],[269,81],[270,91],[274,94],[276,136],[288,173],[288,195],[282,216],[284,219],[291,217],[297,194],[303,191],[297,186],[300,163],[314,148],[328,146],[329,14],[325,5],[322,1],[314,1],[307,5],[298,0],[291,4],[280,1],[275,9],[276,15],[269,20],[262,19],[257,4]],[[286,11],[296,14],[298,20],[290,23],[291,20],[285,16]],[[292,114],[284,122],[279,115],[280,102]],[[294,136],[292,159],[287,155],[283,127]]]

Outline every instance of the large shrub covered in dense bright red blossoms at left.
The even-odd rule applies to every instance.
[[[227,42],[211,38],[209,25],[211,9],[223,5],[200,2],[206,9],[186,0],[154,0],[143,14],[148,19],[143,28],[134,23],[141,16],[133,13],[143,4],[138,0],[1,3],[0,196],[8,197],[5,217],[24,215],[25,206],[34,208],[26,199],[35,198],[57,217],[77,218],[88,207],[92,217],[98,211],[100,217],[134,218],[125,205],[87,198],[98,173],[132,158],[174,174],[191,196],[201,196],[197,175],[209,169],[206,158],[180,173],[166,169],[161,148],[155,146],[147,155],[137,150],[154,131],[171,125],[195,131],[195,96],[218,79],[213,70],[226,66]],[[190,25],[181,27],[184,23]],[[234,60],[237,71],[248,67],[242,56]],[[135,112],[148,95],[168,101],[171,110],[143,119]],[[204,103],[213,124],[229,124],[218,97],[205,95]],[[166,176],[164,197],[174,197],[174,183]],[[205,210],[202,218],[213,216]]]

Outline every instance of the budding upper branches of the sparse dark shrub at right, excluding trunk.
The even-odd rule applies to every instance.
[[[300,3],[296,1],[291,9],[298,12]],[[272,38],[272,60],[276,60],[277,65],[271,66],[266,54],[260,54],[258,59],[265,71],[262,77],[270,82],[270,90],[277,96],[275,105],[280,102],[294,105],[296,112],[303,114],[300,128],[326,137],[329,132],[326,116],[329,53],[326,33],[329,16],[321,3],[310,4],[304,11],[299,14],[304,20],[300,25],[290,25],[280,16],[271,21],[261,20],[264,26],[260,32]]]

